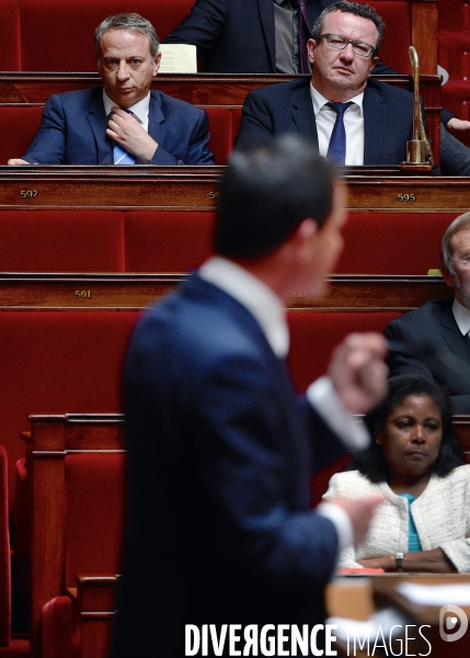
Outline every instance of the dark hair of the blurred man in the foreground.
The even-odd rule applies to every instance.
[[[259,258],[303,219],[321,226],[332,209],[334,178],[326,159],[294,136],[234,150],[220,182],[217,253]]]

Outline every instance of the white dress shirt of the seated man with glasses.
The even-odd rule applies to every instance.
[[[329,102],[313,84],[310,84],[313,103],[313,114],[317,121],[318,146],[321,156],[326,156],[328,147],[333,132],[336,112],[329,107]],[[344,129],[346,132],[346,160],[345,164],[364,164],[364,91],[349,99],[353,103],[344,113]]]

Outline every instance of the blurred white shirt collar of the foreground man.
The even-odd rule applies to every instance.
[[[242,304],[260,325],[276,356],[287,356],[289,330],[284,304],[265,283],[233,261],[219,256],[206,261],[198,274]]]

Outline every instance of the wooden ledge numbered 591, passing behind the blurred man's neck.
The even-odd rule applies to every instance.
[[[13,309],[139,309],[162,297],[187,274],[0,274],[0,313]],[[320,300],[293,291],[287,308],[316,311],[406,311],[451,297],[439,276],[334,274]]]

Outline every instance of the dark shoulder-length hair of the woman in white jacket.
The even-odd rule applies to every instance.
[[[423,375],[399,375],[389,381],[387,399],[365,417],[372,441],[368,449],[357,453],[348,469],[357,469],[372,483],[385,483],[390,479],[390,472],[383,451],[375,441],[377,434],[385,433],[389,415],[409,395],[428,395],[440,409],[443,420],[443,438],[439,453],[434,462],[432,473],[444,476],[456,466],[465,464],[463,453],[454,433],[452,406],[449,396],[438,384]]]

